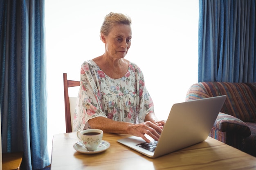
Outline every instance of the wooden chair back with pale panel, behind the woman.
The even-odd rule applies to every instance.
[[[74,118],[74,111],[75,111],[77,97],[69,97],[68,88],[80,86],[80,82],[74,81],[74,80],[68,80],[67,73],[63,73],[63,84],[64,84],[66,132],[72,132],[73,118]]]

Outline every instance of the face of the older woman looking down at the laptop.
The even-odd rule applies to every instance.
[[[131,45],[132,30],[130,25],[113,26],[108,36],[104,36],[106,55],[112,58],[124,58]]]

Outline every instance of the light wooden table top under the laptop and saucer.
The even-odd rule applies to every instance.
[[[256,157],[211,137],[194,146],[152,159],[117,142],[128,136],[104,133],[103,140],[110,143],[110,148],[87,155],[73,148],[79,140],[76,132],[54,135],[51,170],[256,169]]]

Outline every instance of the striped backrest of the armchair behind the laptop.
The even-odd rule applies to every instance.
[[[256,89],[256,83],[254,87]],[[250,86],[245,83],[200,82],[193,84],[186,95],[186,101],[220,95],[227,95],[227,100],[220,110],[222,113],[227,113],[242,121],[256,121],[256,96]]]

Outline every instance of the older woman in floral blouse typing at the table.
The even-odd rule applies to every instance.
[[[122,13],[105,16],[100,30],[105,53],[81,66],[74,131],[97,128],[158,141],[165,121],[155,116],[140,68],[124,58],[131,45],[130,24]]]

